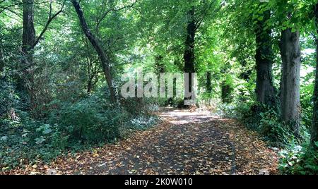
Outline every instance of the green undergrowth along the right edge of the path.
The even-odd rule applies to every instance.
[[[218,114],[241,121],[247,128],[257,131],[269,146],[276,147],[281,157],[278,166],[281,174],[318,174],[318,152],[309,147],[310,122],[307,119],[301,122],[300,138],[296,138],[293,129],[281,121],[277,109],[254,102],[223,104]]]

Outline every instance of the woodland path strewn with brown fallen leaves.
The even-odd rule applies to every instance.
[[[15,174],[277,173],[278,156],[257,133],[207,112],[163,109],[163,121],[116,144],[59,157]]]

